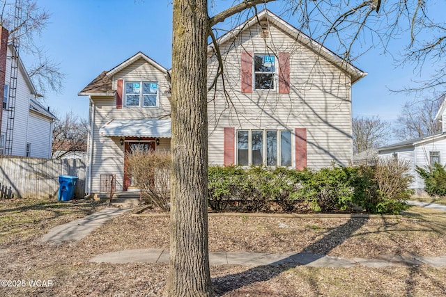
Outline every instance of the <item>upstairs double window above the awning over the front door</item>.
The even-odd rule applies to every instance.
[[[126,81],[125,106],[157,106],[158,87],[155,81]]]

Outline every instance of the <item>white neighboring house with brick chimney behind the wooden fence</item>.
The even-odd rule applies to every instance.
[[[18,58],[17,63],[17,88],[15,94],[14,113],[10,111],[10,79],[11,64],[14,48],[7,45],[8,31],[0,27],[0,89],[4,84],[3,104],[0,112],[0,154],[12,156],[31,156],[36,158],[51,157],[53,122],[56,116],[38,102],[38,93],[29,78],[22,60]],[[12,139],[6,150],[8,138],[7,127],[8,115],[13,115],[13,129],[10,131],[9,139]],[[12,122],[12,121],[11,121]]]

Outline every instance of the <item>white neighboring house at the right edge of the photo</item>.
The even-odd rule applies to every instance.
[[[417,192],[424,190],[424,180],[415,171],[417,166],[429,168],[434,163],[446,165],[446,99],[436,114],[436,120],[442,122],[442,131],[437,134],[410,139],[377,149],[380,157],[408,160],[410,162],[408,174],[414,177],[410,188]]]

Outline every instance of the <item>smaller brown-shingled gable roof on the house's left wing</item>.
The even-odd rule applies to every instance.
[[[114,74],[120,72],[125,67],[128,67],[132,65],[132,63],[138,61],[140,58],[144,59],[147,63],[153,65],[157,70],[160,70],[161,72],[167,74],[168,70],[166,67],[160,65],[159,63],[155,62],[152,58],[147,56],[141,51],[138,51],[137,54],[134,54],[127,60],[125,60],[123,63],[120,63],[112,68],[112,70],[106,70],[103,71],[101,74],[98,75],[91,83],[86,85],[85,88],[83,88],[77,95],[78,96],[89,96],[89,95],[96,95],[96,96],[114,96],[116,93],[116,90],[113,90],[112,86],[112,77]]]

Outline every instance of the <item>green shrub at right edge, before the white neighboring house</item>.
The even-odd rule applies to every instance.
[[[434,163],[432,168],[424,169],[419,166],[417,173],[424,179],[424,190],[431,196],[446,196],[446,170],[445,166]]]

